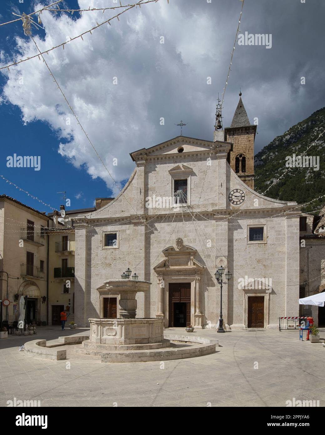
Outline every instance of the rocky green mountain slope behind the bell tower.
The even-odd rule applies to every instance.
[[[283,201],[305,204],[325,195],[325,134],[312,143],[325,130],[325,107],[316,110],[310,117],[291,127],[255,155],[255,190],[263,193],[288,169],[266,196]],[[286,157],[301,155],[319,157],[319,169],[313,167],[286,167]],[[317,160],[315,160],[317,163]],[[303,207],[304,211],[317,211],[325,203],[325,197]]]

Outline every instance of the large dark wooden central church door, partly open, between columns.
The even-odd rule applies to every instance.
[[[169,284],[169,326],[191,325],[191,283]]]

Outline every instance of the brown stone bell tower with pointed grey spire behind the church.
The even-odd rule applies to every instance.
[[[256,125],[251,125],[241,100],[232,118],[231,126],[224,129],[224,140],[231,142],[227,161],[238,177],[244,181],[248,187],[254,189],[254,141]]]

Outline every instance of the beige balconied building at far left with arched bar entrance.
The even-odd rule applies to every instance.
[[[3,320],[17,321],[23,296],[27,323],[47,321],[48,225],[45,212],[0,196],[0,295],[10,301]]]

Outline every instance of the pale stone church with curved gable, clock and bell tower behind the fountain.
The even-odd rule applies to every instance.
[[[178,136],[131,153],[136,166],[109,204],[79,216],[75,228],[75,321],[119,317],[104,281],[129,268],[151,290],[137,317],[164,326],[278,328],[298,315],[299,217],[295,202],[254,191],[254,138],[240,98],[217,141]]]

